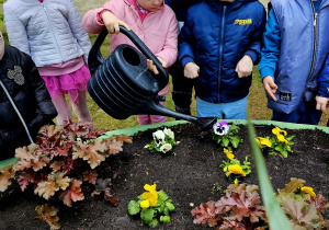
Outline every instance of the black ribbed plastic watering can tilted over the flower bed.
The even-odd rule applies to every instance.
[[[116,119],[138,114],[170,116],[192,122],[200,130],[217,120],[217,117],[180,114],[160,105],[159,102],[166,97],[159,96],[158,92],[168,84],[168,71],[133,31],[120,26],[120,32],[125,34],[146,57],[133,46],[123,44],[104,59],[100,47],[107,35],[106,27],[99,34],[89,53],[88,64],[92,77],[87,87],[93,101],[105,113]],[[159,74],[148,70],[146,58],[154,61]]]

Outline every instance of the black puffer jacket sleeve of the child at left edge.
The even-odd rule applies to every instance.
[[[44,80],[39,77],[38,71],[30,56],[24,56],[22,65],[26,84],[29,87],[30,95],[36,104],[36,113],[34,119],[27,124],[32,134],[36,134],[38,129],[46,125],[52,124],[52,119],[57,116],[57,111],[52,102],[48,90]]]

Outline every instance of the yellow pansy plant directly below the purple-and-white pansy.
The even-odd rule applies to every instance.
[[[226,153],[228,161],[223,161],[223,164],[219,166],[223,168],[223,171],[226,173],[227,177],[230,179],[231,174],[235,176],[246,176],[251,172],[248,157],[246,157],[243,164],[241,164],[239,160],[235,159],[235,156],[230,149],[224,148],[224,152]]]

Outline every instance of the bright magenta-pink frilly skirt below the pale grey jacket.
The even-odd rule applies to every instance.
[[[88,67],[83,65],[77,71],[67,74],[42,76],[42,78],[45,80],[52,99],[56,99],[58,95],[69,94],[71,104],[77,101],[79,91],[87,90],[90,71]]]

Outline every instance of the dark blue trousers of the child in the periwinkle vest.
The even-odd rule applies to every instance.
[[[316,110],[316,101],[306,102],[302,101],[297,110],[290,114],[280,113],[273,111],[272,120],[318,125],[321,118],[322,112]]]

